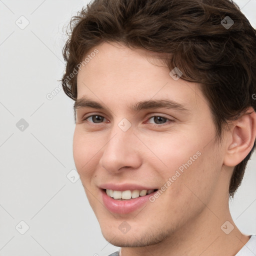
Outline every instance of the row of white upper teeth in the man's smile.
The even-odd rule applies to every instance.
[[[130,198],[137,198],[139,196],[144,196],[146,194],[152,193],[154,190],[125,190],[125,191],[117,191],[112,189],[106,189],[106,194],[114,199],[130,199]]]

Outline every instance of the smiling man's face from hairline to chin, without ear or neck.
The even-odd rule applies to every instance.
[[[96,48],[77,75],[75,166],[106,240],[155,244],[216,205],[222,148],[199,84],[148,51]]]

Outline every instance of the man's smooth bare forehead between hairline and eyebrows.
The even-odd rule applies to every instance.
[[[164,53],[130,49],[107,42],[95,48],[98,53],[93,54],[78,71],[77,99],[87,96],[95,101],[110,101],[119,106],[161,98],[190,105],[190,108],[195,107],[198,100],[206,103],[199,84],[181,78],[175,80],[170,76],[162,61],[166,55]]]

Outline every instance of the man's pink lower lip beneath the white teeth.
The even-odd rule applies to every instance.
[[[149,197],[154,193],[150,193],[144,196],[139,196],[137,198],[131,198],[129,200],[117,200],[108,196],[105,190],[101,189],[102,200],[105,207],[114,213],[126,214],[136,209],[139,209],[143,204],[148,202]]]

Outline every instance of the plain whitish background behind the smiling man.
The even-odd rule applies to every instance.
[[[235,2],[256,28],[256,0]],[[73,102],[62,89],[46,98],[63,74],[63,31],[86,3],[0,0],[1,256],[103,256],[117,249],[103,238],[80,180],[66,177],[75,168]],[[24,29],[15,23],[21,15],[29,21]],[[21,118],[28,123],[23,131],[16,127]],[[246,234],[256,233],[255,166],[253,153],[230,202]],[[29,226],[24,234],[15,228],[24,230],[21,220]]]

